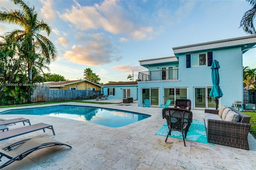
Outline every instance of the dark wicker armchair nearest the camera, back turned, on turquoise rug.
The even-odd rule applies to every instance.
[[[186,109],[179,108],[165,108],[162,109],[162,117],[166,118],[166,122],[169,128],[168,136],[171,134],[171,130],[178,130],[182,133],[184,146],[186,146],[185,138],[188,133],[188,129],[192,123],[192,112]]]

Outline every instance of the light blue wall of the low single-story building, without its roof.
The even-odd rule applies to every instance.
[[[115,95],[108,95],[108,88],[115,89]],[[131,97],[137,100],[137,85],[116,85],[116,86],[104,86],[103,95],[108,95],[109,99],[123,99],[123,89],[131,89]]]

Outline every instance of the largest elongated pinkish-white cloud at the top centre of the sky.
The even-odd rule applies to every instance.
[[[81,6],[74,2],[75,5],[60,14],[60,18],[74,24],[79,30],[103,29],[111,34],[130,36],[135,40],[150,39],[155,34],[151,26],[133,21],[133,12],[121,6],[120,2],[104,1],[93,6]]]

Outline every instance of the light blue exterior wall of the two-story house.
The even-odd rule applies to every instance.
[[[159,105],[164,103],[164,87],[187,88],[187,99],[191,100],[191,107],[195,107],[194,87],[212,87],[210,66],[199,66],[186,68],[186,54],[196,54],[212,51],[213,60],[217,60],[220,65],[220,87],[223,96],[219,100],[219,107],[226,105],[232,106],[234,101],[243,101],[243,70],[242,70],[242,49],[238,47],[227,47],[220,49],[210,49],[205,51],[196,51],[182,53],[179,57],[178,80],[176,81],[138,81],[138,105],[142,105],[142,88],[159,88]],[[206,56],[207,57],[207,56]],[[176,63],[174,63],[176,67]],[[166,63],[163,65],[166,66]],[[156,70],[161,65],[150,66],[149,69]],[[174,67],[174,69],[176,69]],[[206,96],[207,97],[207,96]]]

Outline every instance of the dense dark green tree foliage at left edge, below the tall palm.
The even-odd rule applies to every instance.
[[[1,37],[0,42],[0,105],[27,103],[33,86],[27,86],[29,81],[24,74],[26,62],[16,56],[20,46],[16,41],[6,41]]]

